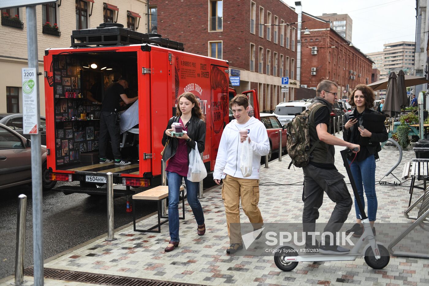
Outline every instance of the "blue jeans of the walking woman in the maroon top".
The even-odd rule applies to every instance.
[[[195,216],[198,225],[204,224],[204,214],[198,200],[199,183],[191,182],[186,177],[178,173],[167,172],[168,180],[168,224],[170,229],[170,240],[179,241],[179,190],[182,183],[182,178],[185,179],[187,201],[190,205],[193,215]]]

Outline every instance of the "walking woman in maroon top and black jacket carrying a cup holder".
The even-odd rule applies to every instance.
[[[183,135],[176,137],[172,133],[172,124],[183,126]],[[179,128],[180,129],[180,128]],[[198,200],[199,183],[187,180],[189,167],[189,153],[198,146],[198,152],[204,151],[205,146],[205,122],[199,103],[192,92],[185,92],[178,97],[176,116],[170,118],[162,138],[164,162],[168,180],[168,221],[170,242],[165,248],[166,252],[172,251],[179,245],[179,191],[184,178],[187,191],[187,201],[192,209],[197,222],[198,235],[205,234],[204,214]]]

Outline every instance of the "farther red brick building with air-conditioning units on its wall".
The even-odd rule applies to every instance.
[[[338,84],[338,94],[348,97],[358,84],[369,84],[373,61],[329,26],[329,21],[302,13],[301,84],[316,88],[322,79]],[[340,96],[339,96],[340,97]]]

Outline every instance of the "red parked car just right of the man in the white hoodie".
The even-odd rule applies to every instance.
[[[261,116],[261,122],[265,125],[265,128],[267,128],[268,132],[268,138],[269,138],[269,154],[268,154],[268,160],[271,160],[272,153],[278,153],[278,149],[280,146],[280,136],[278,134],[278,131],[281,130],[281,150],[286,150],[286,125],[282,126],[280,121],[277,119],[277,117],[272,113],[260,113]],[[281,154],[278,154],[281,156]]]

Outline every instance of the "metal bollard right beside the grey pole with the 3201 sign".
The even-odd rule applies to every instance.
[[[16,222],[15,283],[24,284],[25,227],[27,225],[27,196],[19,195],[18,218]]]

